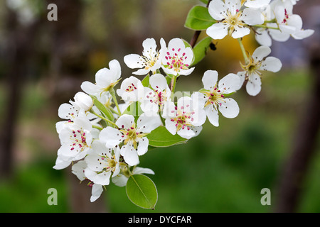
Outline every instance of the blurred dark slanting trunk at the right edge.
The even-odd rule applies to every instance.
[[[316,142],[320,126],[320,45],[311,50],[311,75],[313,87],[309,100],[304,107],[297,128],[297,135],[292,141],[292,153],[284,165],[284,172],[279,184],[276,212],[297,212],[304,189],[304,180],[316,151]]]

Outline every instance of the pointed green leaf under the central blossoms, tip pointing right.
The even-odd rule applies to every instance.
[[[149,145],[156,148],[166,148],[172,145],[186,143],[187,139],[182,138],[180,135],[172,135],[166,130],[166,127],[159,126],[151,131],[146,138],[149,140]]]

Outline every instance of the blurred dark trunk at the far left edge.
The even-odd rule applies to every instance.
[[[23,84],[28,77],[28,63],[31,62],[36,34],[41,20],[21,26],[17,15],[7,9],[6,31],[8,31],[6,50],[4,50],[6,106],[0,133],[0,176],[10,177],[14,166],[13,148],[15,129]]]

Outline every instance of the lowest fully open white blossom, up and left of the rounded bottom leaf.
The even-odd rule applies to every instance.
[[[118,147],[107,149],[99,140],[92,143],[92,152],[85,157],[87,168],[85,177],[95,184],[108,185],[110,177],[119,174],[120,150]]]

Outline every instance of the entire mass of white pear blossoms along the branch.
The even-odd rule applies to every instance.
[[[95,83],[83,82],[83,92],[58,109],[58,116],[64,121],[56,123],[61,147],[54,168],[72,165],[73,174],[92,187],[91,201],[100,197],[110,179],[123,187],[132,175],[154,174],[137,167],[140,156],[150,147],[161,146],[159,142],[174,145],[171,141],[186,141],[199,135],[207,118],[218,127],[219,113],[235,118],[240,108],[230,96],[245,82],[248,94],[259,94],[262,72],[281,69],[279,59],[268,57],[270,36],[286,40],[289,35],[311,35],[312,31],[302,30],[301,18],[292,14],[293,4],[295,1],[289,0],[210,1],[208,12],[216,23],[206,33],[213,39],[226,35],[238,38],[245,63],[240,65],[240,72],[229,73],[220,80],[217,71],[206,70],[203,87],[191,95],[175,96],[177,78],[190,75],[195,68],[196,55],[181,38],[170,40],[168,45],[161,38],[160,48],[154,38],[147,38],[142,43],[142,55],[124,56],[125,65],[135,69],[132,74],[137,77],[122,80],[120,63],[111,60],[109,68],[95,74]],[[255,31],[262,43],[252,55],[241,41],[250,31]],[[115,89],[117,84],[119,88]],[[159,133],[158,128],[167,133]]]

